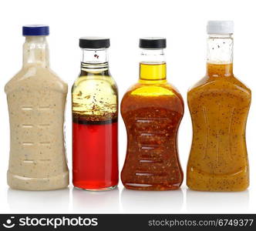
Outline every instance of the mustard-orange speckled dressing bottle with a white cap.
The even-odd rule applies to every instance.
[[[207,25],[207,74],[187,93],[193,141],[187,186],[204,191],[248,188],[245,126],[251,90],[233,74],[233,22]]]

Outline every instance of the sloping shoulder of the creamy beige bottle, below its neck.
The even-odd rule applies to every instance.
[[[19,89],[49,89],[66,94],[68,85],[56,75],[52,69],[39,66],[22,68],[5,85],[5,92],[13,92]]]

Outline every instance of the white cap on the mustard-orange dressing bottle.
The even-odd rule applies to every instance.
[[[234,33],[233,21],[208,21],[207,33],[214,35],[230,35]]]

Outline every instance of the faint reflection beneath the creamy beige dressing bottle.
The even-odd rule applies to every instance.
[[[69,213],[69,188],[53,191],[8,189],[7,194],[12,213]]]

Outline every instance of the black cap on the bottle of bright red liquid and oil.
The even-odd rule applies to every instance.
[[[82,49],[106,49],[110,42],[107,38],[101,37],[82,37],[79,39],[79,47]]]

